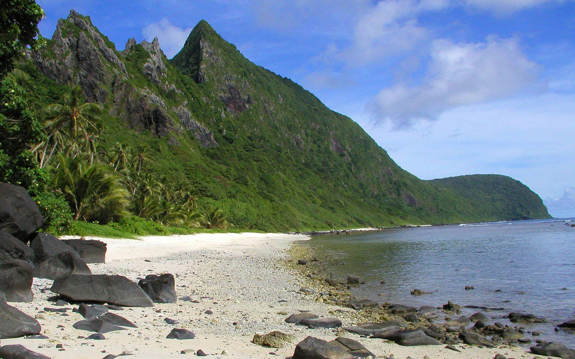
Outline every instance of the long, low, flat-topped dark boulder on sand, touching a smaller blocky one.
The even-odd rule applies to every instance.
[[[83,276],[72,274],[54,281],[52,292],[78,301],[127,307],[153,307],[150,297],[133,281],[118,275]]]

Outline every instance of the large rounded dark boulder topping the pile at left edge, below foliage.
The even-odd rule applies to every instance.
[[[27,242],[43,224],[36,202],[24,187],[0,183],[0,230]]]

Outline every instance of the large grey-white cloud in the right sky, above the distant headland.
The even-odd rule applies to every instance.
[[[459,44],[435,40],[422,82],[385,88],[368,108],[376,121],[404,128],[419,119],[435,119],[451,108],[538,88],[538,80],[539,65],[524,56],[515,38]]]

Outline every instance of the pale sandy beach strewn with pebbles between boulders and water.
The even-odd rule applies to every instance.
[[[308,329],[285,323],[287,315],[309,310],[321,317],[338,316],[344,326],[355,324],[350,318],[352,309],[317,303],[297,292],[301,279],[286,269],[283,261],[293,242],[308,238],[298,234],[260,233],[144,237],[141,240],[94,238],[108,244],[106,263],[89,265],[94,274],[120,274],[136,280],[150,273],[172,273],[176,277],[178,297],[191,296],[200,303],[178,301],[156,304],[153,308],[116,311],[138,328],[106,333],[106,340],[100,341],[78,338],[92,334],[72,327],[83,319],[81,315],[72,311],[68,311],[69,316],[44,313],[39,322],[48,339],[3,339],[2,345],[18,343],[49,357],[63,359],[100,359],[107,354],[122,352],[133,354],[129,358],[195,357],[193,353],[181,354],[185,349],[202,349],[214,358],[286,358],[292,356],[297,342],[312,335],[327,340],[337,336],[354,338],[378,357],[394,354],[397,358],[413,359],[487,359],[497,353],[517,359],[534,357],[519,348],[485,349],[457,345],[462,350],[458,353],[445,349],[444,345],[402,347],[382,339],[338,333],[334,329]],[[50,280],[34,279],[34,301],[11,304],[32,316],[44,307],[53,307],[53,303],[47,300],[53,294],[45,289],[51,284]],[[346,312],[334,312],[338,309]],[[213,314],[206,314],[206,310],[213,311]],[[168,325],[164,322],[166,317],[179,321],[179,324]],[[174,327],[191,330],[196,338],[166,339]],[[263,348],[251,343],[254,333],[273,330],[294,334],[296,341],[283,349]],[[63,344],[64,350],[56,348],[58,343]]]

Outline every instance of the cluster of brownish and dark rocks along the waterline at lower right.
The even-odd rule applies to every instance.
[[[358,319],[360,323],[362,322],[362,318],[367,319],[367,323],[365,324],[343,328],[351,333],[369,338],[387,339],[404,346],[443,344],[447,345],[446,348],[461,343],[496,348],[496,346],[503,344],[528,345],[535,341],[536,345],[531,346],[532,353],[554,356],[560,352],[561,355],[568,353],[571,353],[569,356],[573,355],[571,349],[566,348],[560,343],[546,342],[542,339],[534,340],[526,337],[527,334],[531,334],[532,337],[535,337],[540,333],[538,331],[527,331],[520,325],[546,323],[547,319],[540,316],[511,312],[508,315],[497,317],[508,318],[512,325],[504,325],[500,322],[490,324],[492,318],[486,315],[486,312],[500,311],[504,310],[504,308],[465,306],[466,308],[476,308],[485,311],[478,311],[468,317],[462,316],[462,307],[453,302],[443,304],[442,307],[422,306],[420,308],[402,304],[379,304],[369,299],[354,298],[354,296],[347,291],[347,289],[351,288],[351,285],[361,283],[361,280],[356,276],[348,276],[347,281],[337,280],[333,278],[331,273],[325,275],[322,269],[318,270],[317,268],[306,268],[304,269],[304,273],[305,276],[313,282],[313,287],[319,289],[316,291],[311,287],[304,287],[302,288],[304,290],[301,290],[301,292],[315,295],[316,300],[319,302],[353,308],[358,311],[356,319]],[[468,285],[465,289],[470,290],[474,289],[474,287]],[[427,294],[427,292],[414,289],[411,294],[423,295]],[[293,319],[294,317],[310,318],[308,321],[317,321],[317,319],[315,319],[317,316],[310,313],[301,313],[288,317],[286,322],[296,323]],[[373,319],[376,319],[376,321]],[[379,319],[379,321],[377,321],[377,319]],[[299,322],[300,325],[306,325],[306,323],[308,322],[305,320]],[[513,324],[517,326],[513,326]],[[558,327],[573,330],[575,329],[575,321],[561,323]],[[562,349],[557,351],[557,348]],[[562,357],[565,358],[568,356]]]

